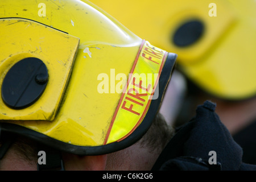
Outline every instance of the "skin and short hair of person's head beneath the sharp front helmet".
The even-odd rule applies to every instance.
[[[130,147],[105,155],[81,156],[61,152],[61,156],[67,171],[147,171],[152,168],[173,135],[172,127],[158,114],[147,133]],[[35,141],[18,137],[0,160],[0,170],[37,170],[38,156],[35,146]]]

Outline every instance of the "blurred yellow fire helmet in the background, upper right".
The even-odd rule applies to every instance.
[[[136,35],[177,53],[177,68],[213,96],[226,100],[255,96],[254,0],[92,2]]]

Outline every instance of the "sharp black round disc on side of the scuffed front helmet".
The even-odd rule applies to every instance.
[[[20,60],[3,79],[3,102],[12,109],[28,107],[42,95],[47,82],[48,71],[42,60],[36,57]]]

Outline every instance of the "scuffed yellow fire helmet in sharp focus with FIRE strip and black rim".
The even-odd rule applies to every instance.
[[[86,0],[1,0],[0,40],[1,131],[78,155],[137,142],[176,63]]]

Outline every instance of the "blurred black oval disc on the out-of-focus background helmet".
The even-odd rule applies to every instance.
[[[204,32],[204,24],[201,20],[189,20],[175,31],[172,41],[178,47],[186,47],[201,38]]]

